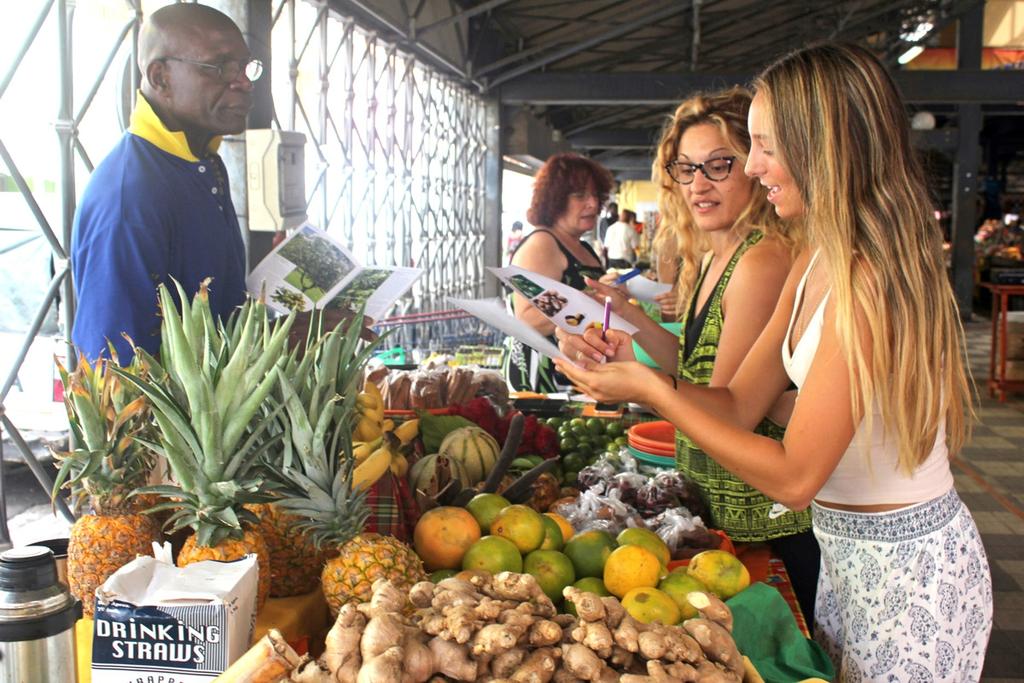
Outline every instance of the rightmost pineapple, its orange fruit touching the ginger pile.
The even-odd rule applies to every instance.
[[[281,371],[281,399],[287,436],[280,463],[271,467],[283,498],[275,507],[297,521],[331,556],[322,587],[333,613],[349,600],[369,600],[376,579],[412,586],[425,579],[423,564],[397,539],[360,535],[369,516],[366,492],[352,485],[352,430],[358,418],[358,381],[375,344],[361,344],[362,316],[327,334],[313,332],[299,362],[289,358]],[[377,343],[379,343],[378,340]],[[338,457],[342,454],[342,458]],[[323,565],[323,557],[309,557]]]

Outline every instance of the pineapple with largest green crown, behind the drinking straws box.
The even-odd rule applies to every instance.
[[[269,557],[256,528],[259,519],[245,505],[272,500],[260,456],[282,437],[269,434],[275,416],[261,410],[276,384],[274,365],[294,315],[273,324],[262,303],[249,301],[226,325],[215,323],[207,285],[190,305],[177,287],[180,314],[170,292],[160,287],[163,365],[136,349],[154,379],[122,376],[153,403],[160,441],[153,449],[167,457],[176,482],[144,490],[167,499],[155,509],[172,511],[171,532],[195,530],[178,554],[178,566],[255,553],[262,606],[270,588]]]

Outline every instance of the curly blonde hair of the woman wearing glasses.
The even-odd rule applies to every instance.
[[[663,247],[669,248],[675,243],[676,254],[680,259],[676,285],[677,313],[684,310],[689,302],[700,270],[700,258],[709,247],[705,234],[696,227],[693,214],[683,201],[680,185],[672,179],[665,167],[678,158],[679,141],[688,128],[710,124],[719,129],[729,151],[736,156],[732,172],[742,173],[751,152],[751,135],[746,130],[751,97],[750,91],[740,87],[693,95],[676,108],[662,131],[657,158],[651,170],[652,178],[657,183],[657,210],[660,214],[654,252],[662,254]],[[757,184],[757,180],[751,178],[751,184]],[[742,226],[759,228],[766,236],[776,236],[791,247],[796,242],[797,230],[794,225],[780,221],[765,193],[757,188],[751,193],[751,201],[731,229]]]

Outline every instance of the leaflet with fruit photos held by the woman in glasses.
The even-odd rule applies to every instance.
[[[487,269],[565,332],[582,335],[590,328],[600,329],[604,323],[604,305],[578,289],[515,265]],[[631,335],[637,331],[614,313],[608,327]]]

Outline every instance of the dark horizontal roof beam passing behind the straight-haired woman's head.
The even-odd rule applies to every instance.
[[[908,102],[1019,102],[1024,71],[901,71],[893,74]],[[501,88],[504,104],[671,105],[697,90],[750,83],[751,73],[530,74]]]

